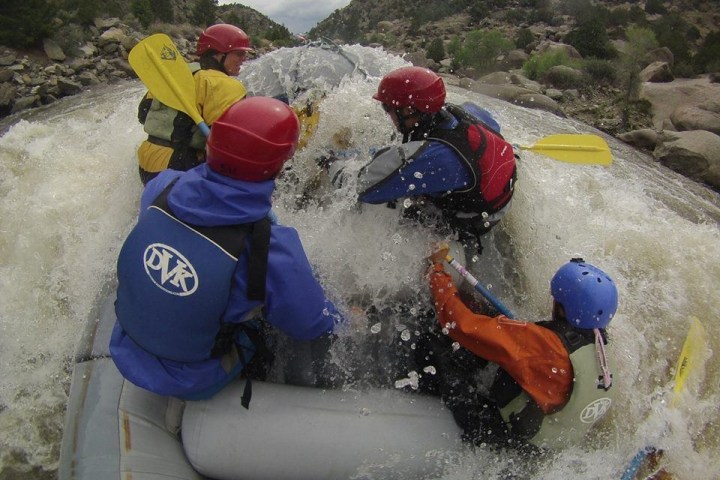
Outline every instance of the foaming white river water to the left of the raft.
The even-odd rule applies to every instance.
[[[0,477],[54,478],[78,338],[136,215],[136,84],[0,138]]]

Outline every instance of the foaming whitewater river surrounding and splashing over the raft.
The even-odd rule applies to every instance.
[[[404,64],[382,51],[348,50],[384,71]],[[321,186],[321,202],[297,209],[317,172],[313,159],[339,129],[349,129],[359,152],[350,170],[369,159],[371,148],[391,141],[390,122],[371,100],[377,81],[355,76],[327,95],[317,134],[278,185],[280,220],[300,231],[319,277],[343,306],[387,307],[398,296],[424,294],[423,257],[437,240],[401,221],[396,210],[359,209],[352,182],[339,190]],[[55,478],[75,349],[136,216],[135,149],[143,139],[136,108],[143,92],[137,82],[106,87],[0,130],[0,479]],[[484,105],[517,144],[553,133],[599,134],[459,89],[451,89],[449,100]],[[467,449],[448,457],[444,480],[509,473],[619,478],[645,445],[666,451],[677,478],[720,476],[720,199],[607,140],[615,159],[609,168],[524,153],[511,213],[487,239],[483,256],[468,261],[518,317],[530,320],[549,316],[549,279],[572,256],[606,270],[620,290],[610,328],[617,402],[586,441],[555,456]],[[692,317],[704,325],[707,344],[670,407]],[[383,328],[368,324],[352,335]]]

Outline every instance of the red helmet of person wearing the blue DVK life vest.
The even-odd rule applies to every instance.
[[[290,108],[269,97],[232,104],[210,129],[208,166],[221,175],[260,182],[274,178],[295,153],[300,122]]]

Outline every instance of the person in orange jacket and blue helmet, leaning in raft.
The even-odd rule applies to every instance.
[[[557,449],[579,442],[615,395],[605,331],[618,305],[613,280],[574,258],[550,282],[552,320],[493,317],[465,304],[443,268],[446,253],[430,257],[430,289],[446,335],[426,335],[416,349],[423,371],[435,371],[423,375],[424,389],[441,395],[464,439],[476,445]],[[487,362],[499,366],[489,389],[476,381]]]

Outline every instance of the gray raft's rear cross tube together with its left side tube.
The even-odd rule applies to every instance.
[[[181,435],[167,397],[125,381],[110,358],[78,363],[60,480],[322,480],[437,478],[462,448],[434,397],[238,381],[187,402]],[[170,423],[173,423],[172,421]]]

